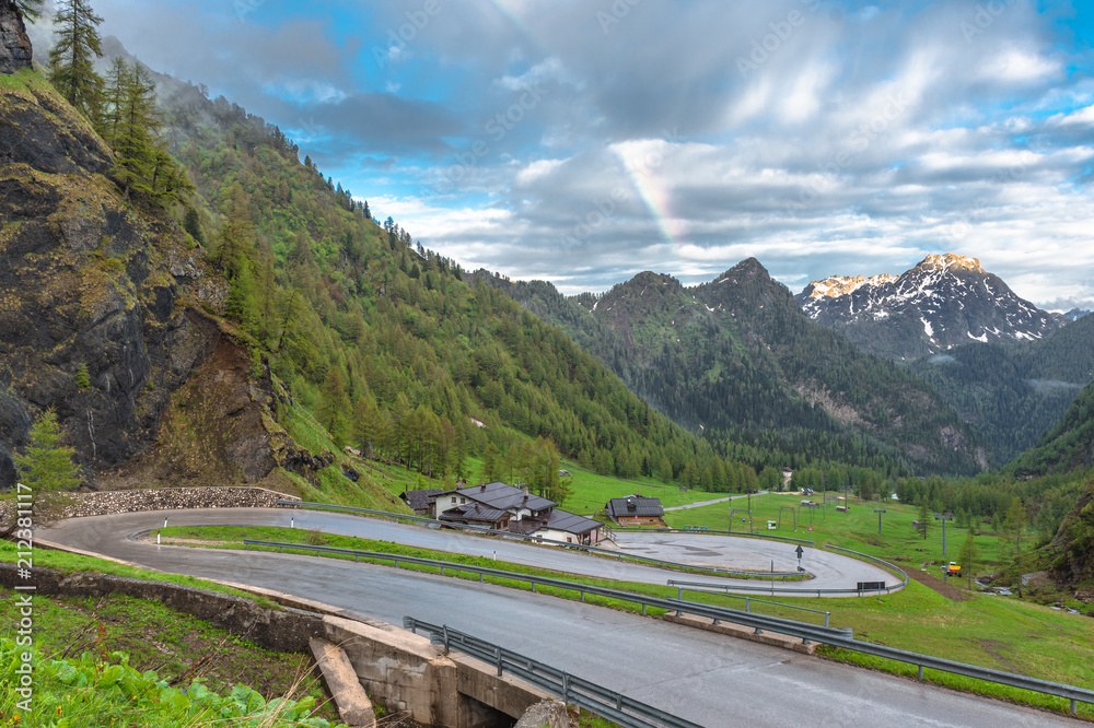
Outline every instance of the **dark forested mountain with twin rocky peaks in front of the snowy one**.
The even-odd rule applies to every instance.
[[[540,282],[494,284],[562,326],[651,404],[715,438],[777,430],[787,442],[811,433],[816,460],[895,457],[943,472],[987,465],[975,431],[918,377],[814,325],[756,260],[695,287],[640,273],[598,298],[566,300]]]

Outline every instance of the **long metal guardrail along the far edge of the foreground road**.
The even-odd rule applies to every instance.
[[[930,655],[909,653],[903,649],[897,649],[895,647],[886,647],[884,645],[877,645],[874,643],[861,642],[859,639],[856,639],[853,637],[852,631],[847,627],[845,629],[823,627],[823,626],[817,626],[815,624],[808,624],[806,622],[798,622],[795,620],[783,619],[780,617],[768,617],[764,614],[756,614],[755,612],[745,612],[737,609],[728,609],[725,607],[702,604],[699,602],[687,601],[684,599],[661,599],[659,597],[651,597],[647,595],[635,594],[631,591],[619,591],[617,589],[607,589],[604,587],[591,586],[587,584],[563,582],[560,579],[544,578],[539,576],[532,576],[528,574],[517,574],[515,572],[504,572],[497,568],[484,568],[480,566],[470,566],[467,564],[455,564],[452,562],[435,561],[433,559],[399,556],[389,553],[376,553],[370,551],[353,551],[352,549],[336,549],[333,547],[310,545],[306,543],[252,541],[249,539],[244,541],[244,545],[272,547],[282,550],[295,549],[299,551],[314,551],[316,554],[340,553],[345,555],[356,555],[358,557],[394,561],[396,564],[401,561],[408,564],[421,564],[426,566],[440,567],[442,574],[444,573],[445,568],[451,568],[453,571],[470,572],[473,574],[477,573],[479,574],[479,580],[482,579],[482,576],[497,576],[517,582],[531,583],[533,591],[536,590],[537,586],[568,589],[571,591],[580,592],[582,601],[584,601],[586,594],[591,594],[601,597],[606,597],[609,599],[618,599],[621,601],[630,601],[633,603],[641,604],[642,614],[645,614],[645,610],[648,607],[653,607],[655,609],[664,609],[666,611],[675,611],[677,614],[687,612],[689,614],[695,614],[697,617],[706,617],[714,621],[725,621],[725,622],[732,622],[734,624],[741,624],[743,626],[749,626],[756,630],[757,633],[767,630],[779,634],[785,634],[791,637],[799,637],[805,643],[808,643],[811,641],[819,642],[836,647],[842,647],[845,649],[851,649],[854,651],[863,653],[865,655],[873,655],[875,657],[884,657],[886,659],[895,660],[898,662],[915,665],[919,667],[920,680],[923,679],[923,669],[929,668],[932,670],[950,672],[953,674],[959,674],[967,678],[975,678],[977,680],[984,680],[986,682],[992,682],[1000,685],[1008,685],[1010,688],[1017,688],[1021,690],[1028,690],[1036,693],[1043,693],[1045,695],[1055,695],[1057,697],[1070,700],[1072,713],[1075,713],[1076,702],[1094,705],[1094,690],[1089,690],[1086,688],[1078,688],[1075,685],[1068,685],[1059,682],[1052,682],[1049,680],[1040,680],[1038,678],[1029,678],[1022,674],[1015,674],[1013,672],[992,670],[991,668],[984,668],[977,665],[968,665],[966,662],[956,662],[954,660],[946,660],[940,657],[931,657]]]

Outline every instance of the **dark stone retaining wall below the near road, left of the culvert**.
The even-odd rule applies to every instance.
[[[323,615],[300,609],[266,609],[249,599],[226,594],[114,574],[95,572],[66,574],[43,567],[35,567],[33,573],[34,594],[61,597],[104,597],[121,594],[137,599],[152,599],[175,611],[193,614],[213,626],[245,637],[266,649],[307,653],[307,641],[324,635]],[[26,584],[26,579],[19,578],[15,564],[0,563],[0,587],[13,588]]]

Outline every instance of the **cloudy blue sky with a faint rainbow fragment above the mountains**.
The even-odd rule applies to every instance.
[[[94,0],[422,245],[568,294],[979,258],[1094,307],[1094,1]]]

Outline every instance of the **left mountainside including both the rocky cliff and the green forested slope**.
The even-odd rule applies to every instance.
[[[197,195],[168,212],[121,199],[110,151],[40,77],[0,77],[4,482],[50,406],[101,486],[254,482],[278,466],[329,482],[314,475],[335,456],[289,435],[301,407],[336,444],[368,439],[427,475],[538,436],[606,473],[710,471],[709,444],[377,225],[279,129],[176,91],[164,116]]]

